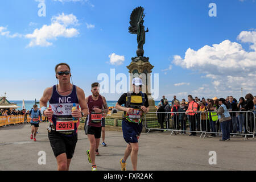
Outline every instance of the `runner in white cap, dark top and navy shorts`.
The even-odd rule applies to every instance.
[[[123,159],[120,160],[121,170],[126,171],[126,160],[131,155],[133,170],[137,170],[139,150],[138,139],[142,131],[143,115],[149,110],[147,94],[142,93],[141,78],[133,78],[133,93],[124,93],[117,101],[115,108],[124,111],[122,121],[123,138],[128,143]],[[129,96],[129,97],[128,97]],[[125,104],[125,107],[121,106]]]

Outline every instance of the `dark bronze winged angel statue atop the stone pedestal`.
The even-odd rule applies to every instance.
[[[138,43],[138,49],[137,49],[137,56],[138,57],[132,57],[131,59],[133,61],[138,61],[139,59],[142,59],[143,61],[148,61],[148,57],[143,57],[144,50],[143,50],[143,44],[145,43],[145,32],[148,32],[148,28],[145,31],[144,30],[144,8],[139,6],[136,7],[130,16],[130,27],[129,32],[131,34],[137,34],[137,43]]]

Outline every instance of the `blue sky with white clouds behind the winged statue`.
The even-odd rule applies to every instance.
[[[38,16],[40,2],[45,17]],[[208,14],[210,3],[216,3],[216,17]],[[86,96],[90,84],[101,81],[100,73],[110,76],[115,69],[128,76],[126,66],[137,49],[128,27],[137,6],[144,7],[149,30],[144,56],[159,74],[155,100],[188,94],[238,98],[241,87],[243,96],[256,94],[254,0],[10,0],[0,2],[0,96],[39,100],[56,84],[54,67],[60,62],[71,66],[73,83]],[[121,94],[102,95],[118,100]]]

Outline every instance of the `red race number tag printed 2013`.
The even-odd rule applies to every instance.
[[[72,118],[57,118],[56,131],[74,131],[75,123]]]

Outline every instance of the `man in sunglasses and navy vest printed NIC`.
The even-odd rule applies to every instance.
[[[68,171],[77,143],[79,118],[88,114],[84,91],[71,84],[71,69],[68,64],[60,63],[55,67],[59,84],[44,90],[40,99],[41,111],[49,119],[48,138],[55,158],[57,170]],[[49,109],[47,102],[49,101]],[[72,111],[73,104],[77,109]],[[79,106],[81,110],[79,110]],[[77,121],[73,121],[77,118]]]

